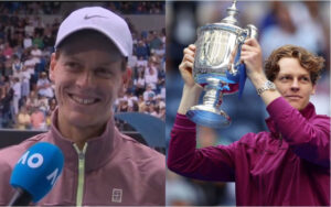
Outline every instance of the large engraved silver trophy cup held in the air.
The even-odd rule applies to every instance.
[[[238,91],[238,79],[245,73],[239,67],[241,47],[248,37],[257,37],[257,29],[237,25],[236,0],[220,23],[206,24],[197,30],[193,77],[205,95],[203,103],[193,106],[186,116],[197,124],[210,128],[227,127],[231,118],[221,110],[223,95]]]

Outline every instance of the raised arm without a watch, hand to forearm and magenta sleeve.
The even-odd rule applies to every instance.
[[[185,113],[197,103],[202,87],[192,76],[195,46],[184,50],[184,57],[179,66],[184,80],[183,94],[178,109],[175,123],[171,131],[168,153],[168,167],[181,175],[205,181],[234,181],[232,146],[210,146],[196,149],[195,123]],[[203,138],[201,138],[203,139]]]

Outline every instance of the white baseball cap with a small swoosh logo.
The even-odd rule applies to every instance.
[[[81,30],[95,30],[107,37],[128,57],[132,54],[132,35],[124,19],[100,7],[87,7],[72,12],[60,25],[55,48],[71,34]]]

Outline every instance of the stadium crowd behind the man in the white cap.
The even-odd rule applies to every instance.
[[[46,130],[56,108],[49,79],[57,29],[73,10],[102,6],[129,24],[131,80],[115,111],[166,119],[164,2],[0,2],[0,129]],[[125,124],[119,124],[124,127]]]

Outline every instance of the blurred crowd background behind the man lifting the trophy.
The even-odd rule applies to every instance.
[[[220,22],[231,6],[231,1],[167,2],[167,144],[182,92],[178,66],[183,48],[195,42],[199,26]],[[325,58],[325,68],[311,101],[318,113],[330,116],[330,1],[238,1],[237,9],[241,28],[249,23],[258,28],[264,59],[284,44],[303,46]],[[197,148],[226,145],[248,132],[267,130],[265,105],[248,79],[243,97],[223,97],[222,108],[232,117],[231,127],[216,131],[199,128],[197,133],[203,135],[197,140]],[[166,200],[169,206],[235,205],[235,184],[201,182],[168,171]]]

